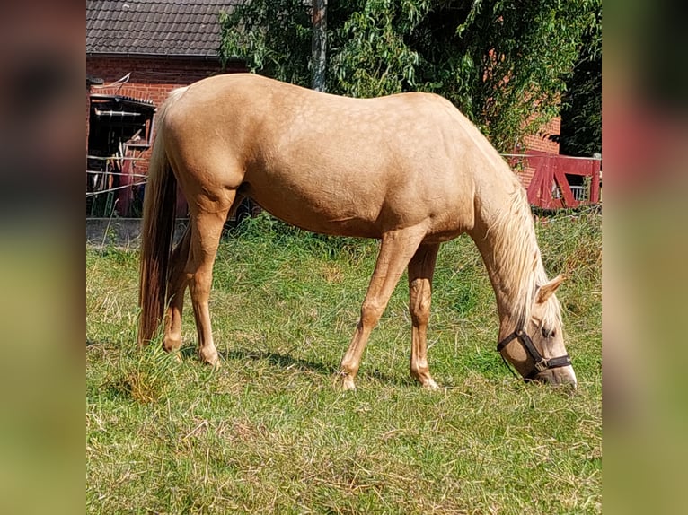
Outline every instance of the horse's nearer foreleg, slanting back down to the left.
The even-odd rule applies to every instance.
[[[354,379],[370,332],[377,325],[392,296],[394,286],[399,282],[403,269],[409,264],[411,256],[418,249],[424,236],[425,231],[420,227],[389,231],[384,234],[377,263],[375,263],[375,272],[370,279],[366,299],[361,307],[361,318],[354,337],[348,345],[347,354],[344,354],[341,360],[340,374],[344,389],[356,389]]]

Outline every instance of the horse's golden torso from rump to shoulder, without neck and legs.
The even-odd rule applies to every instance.
[[[170,110],[179,159],[204,189],[237,188],[289,223],[370,237],[472,223],[475,135],[437,95],[352,99],[226,74],[192,84]]]

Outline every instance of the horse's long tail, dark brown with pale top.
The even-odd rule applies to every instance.
[[[138,345],[148,344],[163,319],[167,303],[167,283],[172,255],[177,180],[165,150],[165,113],[186,88],[175,90],[158,116],[153,153],[141,222],[141,266],[139,269]]]

